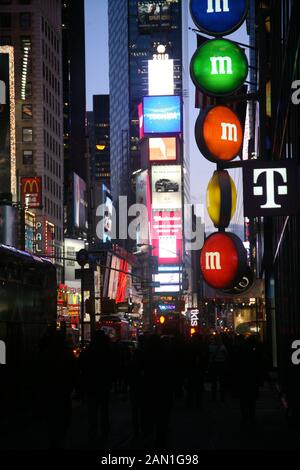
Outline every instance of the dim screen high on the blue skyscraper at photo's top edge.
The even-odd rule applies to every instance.
[[[140,33],[169,30],[172,26],[172,2],[144,0],[138,2],[138,28]]]

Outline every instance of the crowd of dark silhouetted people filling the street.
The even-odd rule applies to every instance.
[[[52,330],[40,344],[37,366],[39,407],[51,448],[64,446],[74,396],[86,406],[91,442],[99,434],[109,436],[115,393],[127,399],[134,435],[152,434],[156,447],[164,448],[174,403],[200,408],[207,383],[211,400],[226,402],[229,394],[239,399],[241,422],[247,426],[254,421],[267,371],[258,336],[217,333],[189,339],[144,335],[133,348],[97,331],[75,358],[64,333]]]

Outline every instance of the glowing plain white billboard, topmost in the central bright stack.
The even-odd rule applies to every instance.
[[[148,94],[174,95],[174,61],[149,60],[148,61]]]

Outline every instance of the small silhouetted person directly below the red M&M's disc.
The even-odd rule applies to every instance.
[[[209,379],[211,382],[212,399],[217,398],[217,387],[219,384],[220,398],[225,399],[225,383],[228,352],[219,335],[210,339],[209,350]]]

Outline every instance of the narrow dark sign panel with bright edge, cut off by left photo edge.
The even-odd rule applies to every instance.
[[[0,53],[0,192],[10,189],[9,54]]]

